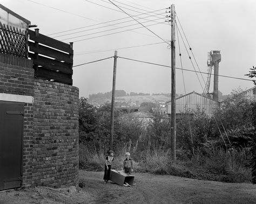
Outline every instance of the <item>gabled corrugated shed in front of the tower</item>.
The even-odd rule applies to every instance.
[[[167,114],[171,114],[171,101],[166,102]],[[176,114],[184,114],[187,110],[196,111],[198,108],[204,110],[211,117],[213,111],[220,107],[220,103],[206,96],[191,92],[176,98]]]

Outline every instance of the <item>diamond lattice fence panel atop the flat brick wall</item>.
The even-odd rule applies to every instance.
[[[28,31],[0,22],[0,53],[28,58]]]

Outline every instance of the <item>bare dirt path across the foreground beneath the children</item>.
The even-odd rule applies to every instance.
[[[103,172],[80,171],[83,189],[26,188],[0,192],[0,203],[256,203],[256,185],[135,173],[132,187],[103,183]]]

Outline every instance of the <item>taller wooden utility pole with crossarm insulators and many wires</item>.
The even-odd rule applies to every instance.
[[[172,160],[176,161],[176,62],[175,62],[175,5],[171,5],[171,153]]]

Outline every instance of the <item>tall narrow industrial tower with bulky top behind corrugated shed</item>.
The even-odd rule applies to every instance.
[[[213,100],[219,100],[219,62],[221,61],[220,51],[208,52],[207,66],[214,69]]]

